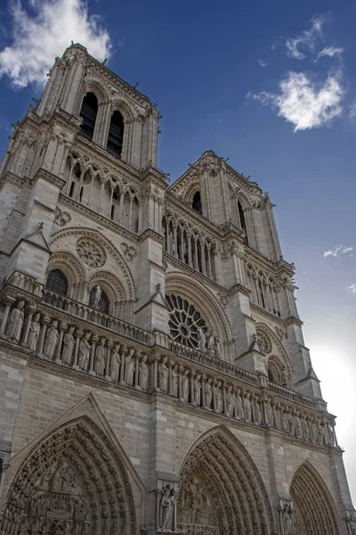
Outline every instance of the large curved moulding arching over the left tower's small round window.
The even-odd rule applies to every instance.
[[[124,254],[117,249],[117,247],[109,240],[109,238],[93,228],[85,226],[70,226],[53,235],[52,245],[69,235],[75,236],[76,241],[82,236],[85,236],[86,238],[93,238],[94,240],[99,241],[106,253],[112,255],[113,259],[117,262],[117,265],[120,268],[123,277],[121,284],[125,288],[126,298],[128,300],[136,300],[137,292],[134,284],[134,276],[128,267]]]

